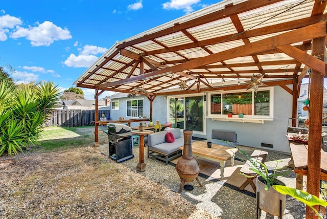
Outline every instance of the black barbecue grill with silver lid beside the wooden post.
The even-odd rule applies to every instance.
[[[109,158],[117,163],[133,158],[131,127],[113,122],[107,123],[107,127],[104,132],[108,135]]]

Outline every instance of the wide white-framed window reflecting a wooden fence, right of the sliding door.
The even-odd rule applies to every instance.
[[[209,93],[209,117],[244,114],[250,118],[273,118],[273,88],[254,91]]]

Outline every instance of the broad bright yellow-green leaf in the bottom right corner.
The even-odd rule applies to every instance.
[[[277,192],[282,194],[288,194],[293,198],[299,200],[300,202],[308,205],[318,216],[323,219],[319,212],[313,207],[315,205],[321,205],[323,207],[327,206],[327,202],[319,199],[317,196],[310,194],[306,191],[290,188],[282,185],[273,185],[272,186]]]

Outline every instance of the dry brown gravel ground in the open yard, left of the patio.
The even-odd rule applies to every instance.
[[[0,157],[1,218],[220,218],[84,147]]]

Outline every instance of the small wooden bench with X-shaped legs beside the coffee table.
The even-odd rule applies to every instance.
[[[255,161],[265,163],[267,156],[268,156],[267,151],[254,150],[250,157]],[[243,165],[243,167],[240,169],[240,172],[244,173],[247,176],[253,176],[253,177],[246,178],[246,181],[240,186],[239,189],[244,190],[244,188],[250,184],[253,191],[256,192],[256,187],[255,187],[255,184],[253,183],[253,180],[256,178],[256,173],[254,171],[250,170],[251,166],[252,165],[251,165],[250,161],[247,160],[246,163]]]

